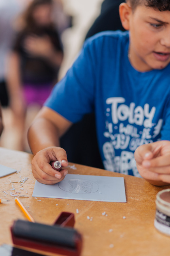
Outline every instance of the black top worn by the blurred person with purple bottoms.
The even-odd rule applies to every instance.
[[[21,58],[21,81],[23,84],[46,84],[52,83],[57,78],[58,70],[46,58],[31,55],[24,48],[24,40],[29,36],[44,37],[48,36],[56,51],[63,51],[59,35],[55,28],[37,27],[31,32],[28,30],[21,31],[13,45],[13,51],[17,52]]]

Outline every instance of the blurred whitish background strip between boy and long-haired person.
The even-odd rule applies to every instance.
[[[65,11],[73,16],[73,27],[62,35],[65,58],[60,71],[60,78],[65,75],[79,53],[85,35],[100,13],[103,0],[63,0]]]

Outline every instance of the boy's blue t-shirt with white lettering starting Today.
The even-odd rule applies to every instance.
[[[136,148],[170,140],[170,65],[139,72],[128,59],[128,48],[128,32],[88,39],[45,105],[73,123],[95,111],[105,169],[140,177]]]

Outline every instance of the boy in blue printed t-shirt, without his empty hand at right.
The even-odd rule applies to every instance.
[[[170,140],[170,3],[128,0],[119,13],[129,32],[88,39],[30,127],[32,171],[41,183],[64,179],[67,170],[56,172],[49,165],[57,159],[67,166],[58,138],[93,110],[107,170],[139,177],[136,148]]]

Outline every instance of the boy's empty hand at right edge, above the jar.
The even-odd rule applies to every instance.
[[[170,141],[157,141],[139,146],[135,151],[140,175],[156,186],[170,184]]]

